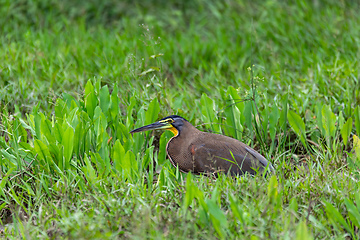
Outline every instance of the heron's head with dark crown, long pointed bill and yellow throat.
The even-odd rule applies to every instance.
[[[157,122],[154,122],[152,124],[134,129],[130,133],[163,129],[163,130],[169,130],[175,136],[177,136],[180,133],[182,126],[184,125],[184,122],[187,122],[187,120],[185,118],[177,116],[177,115],[171,115],[171,116],[165,117]]]

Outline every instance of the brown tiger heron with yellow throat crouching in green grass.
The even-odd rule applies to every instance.
[[[182,172],[242,175],[265,169],[273,171],[272,165],[248,145],[224,135],[202,132],[185,118],[172,115],[158,122],[132,130],[130,133],[148,130],[170,130],[172,137],[166,152],[174,167]]]

